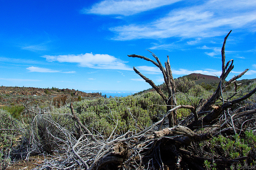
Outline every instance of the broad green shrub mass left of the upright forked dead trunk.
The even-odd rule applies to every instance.
[[[74,109],[81,121],[94,129],[94,133],[103,132],[108,136],[117,121],[118,134],[148,127],[165,113],[166,106],[160,105],[164,105],[162,98],[156,92],[149,92],[137,96],[82,100],[74,103]]]

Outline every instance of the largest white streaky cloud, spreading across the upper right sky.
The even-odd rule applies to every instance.
[[[179,8],[148,24],[111,27],[115,40],[160,39],[168,37],[207,38],[226,35],[230,28],[253,31],[256,1],[208,0],[202,5]],[[187,41],[196,43],[196,40]]]

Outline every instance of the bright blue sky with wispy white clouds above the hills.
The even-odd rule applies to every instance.
[[[255,0],[0,0],[0,85],[75,90],[150,88],[132,69],[162,84],[170,57],[174,78],[221,73],[256,78]]]

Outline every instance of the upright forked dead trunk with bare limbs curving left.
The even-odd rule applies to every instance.
[[[174,79],[172,76],[172,70],[171,70],[171,66],[170,66],[169,56],[167,56],[167,62],[164,63],[165,64],[165,68],[164,68],[162,66],[162,63],[158,59],[158,57],[156,57],[156,55],[154,53],[152,53],[151,51],[149,51],[149,52],[156,59],[157,63],[147,57],[140,56],[140,55],[128,55],[128,57],[137,57],[140,59],[144,59],[146,61],[150,61],[151,63],[155,64],[162,71],[162,74],[164,76],[164,82],[168,89],[168,97],[164,94],[164,92],[158,86],[156,86],[154,84],[154,82],[152,80],[146,78],[135,67],[133,67],[134,71],[138,75],[140,75],[146,82],[148,82],[152,86],[152,88],[154,88],[156,90],[156,92],[158,92],[158,94],[160,94],[160,96],[162,97],[162,99],[164,100],[164,102],[167,105],[167,111],[168,111],[168,110],[172,109],[174,106],[177,106],[176,88],[175,88],[175,82],[174,82]],[[169,127],[174,127],[174,125],[177,124],[177,111],[175,110],[172,113],[170,113],[170,115],[168,116],[168,119],[169,119]]]

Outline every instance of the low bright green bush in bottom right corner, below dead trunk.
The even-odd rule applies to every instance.
[[[194,144],[196,152],[200,156],[206,156],[204,154],[211,154],[212,159],[228,158],[235,159],[244,156],[248,156],[250,159],[243,161],[243,166],[254,166],[256,167],[256,136],[252,131],[246,131],[244,135],[240,137],[238,134],[233,136],[213,137],[210,141],[202,141],[199,145]],[[217,164],[211,164],[209,161],[204,162],[207,169],[216,169]],[[235,164],[241,166],[241,164]],[[218,167],[221,169],[221,167]]]

